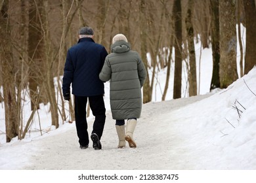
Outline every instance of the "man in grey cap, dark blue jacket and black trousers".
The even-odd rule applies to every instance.
[[[88,148],[86,105],[89,99],[91,110],[95,116],[91,139],[93,148],[102,148],[102,137],[106,120],[104,105],[104,83],[98,77],[108,53],[104,46],[93,41],[93,29],[82,27],[79,30],[79,41],[69,48],[64,67],[62,92],[64,99],[70,101],[70,84],[75,96],[75,126],[81,149]]]

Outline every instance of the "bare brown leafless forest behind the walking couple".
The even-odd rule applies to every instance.
[[[126,35],[153,71],[143,87],[143,103],[152,101],[156,69],[166,67],[165,100],[171,64],[175,65],[173,99],[182,97],[182,61],[188,66],[189,95],[198,95],[194,41],[199,39],[203,48],[213,52],[209,91],[226,88],[256,64],[255,0],[1,0],[0,5],[0,103],[5,108],[7,142],[24,139],[40,103],[50,104],[56,128],[66,120],[61,76],[66,52],[77,42],[80,27],[92,27],[95,42],[109,53],[112,37]],[[242,46],[240,25],[246,28],[246,46]],[[245,58],[240,71],[237,42]],[[22,116],[24,92],[32,104],[27,121]],[[58,100],[62,103],[57,105]],[[70,103],[72,120],[73,108]]]

